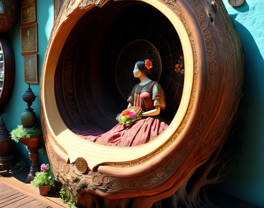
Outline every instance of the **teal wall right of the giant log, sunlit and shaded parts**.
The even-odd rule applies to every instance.
[[[245,48],[245,72],[240,118],[246,130],[238,168],[214,188],[264,207],[264,1],[246,0],[232,7],[223,0]]]

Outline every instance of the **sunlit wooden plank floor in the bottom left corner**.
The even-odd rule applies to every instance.
[[[26,183],[27,171],[0,175],[0,208],[68,208],[59,193],[41,196],[31,183]]]

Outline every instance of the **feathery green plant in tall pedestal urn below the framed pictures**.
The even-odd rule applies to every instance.
[[[32,128],[25,128],[22,125],[17,125],[16,129],[11,132],[11,139],[18,142],[18,137],[20,138],[36,138],[42,136],[42,129],[40,126],[33,126]]]

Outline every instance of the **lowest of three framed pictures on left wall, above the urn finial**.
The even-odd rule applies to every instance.
[[[38,84],[37,53],[23,55],[24,82]]]

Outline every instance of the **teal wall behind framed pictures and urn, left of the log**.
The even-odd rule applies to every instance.
[[[37,122],[40,125],[39,117],[39,90],[40,90],[40,77],[41,69],[44,60],[45,51],[47,48],[47,43],[49,40],[50,31],[53,25],[54,12],[53,12],[53,2],[54,0],[37,0],[37,28],[38,28],[38,80],[39,84],[31,84],[31,89],[35,95],[37,95],[36,100],[31,106],[37,115]],[[20,1],[21,3],[21,1]],[[21,43],[20,43],[20,26],[21,19],[19,18],[16,22],[15,27],[8,33],[14,48],[15,55],[15,84],[12,96],[9,103],[4,108],[6,114],[3,114],[3,118],[6,128],[11,131],[16,128],[17,125],[21,125],[21,114],[27,108],[27,103],[22,99],[22,95],[28,88],[28,84],[24,82],[24,71],[23,71],[23,56],[21,55]],[[41,147],[44,147],[44,141],[42,139],[40,143]],[[14,144],[15,150],[18,155],[24,157],[27,164],[31,165],[31,160],[28,157],[28,151],[25,146],[20,143]],[[38,164],[48,163],[47,157],[39,154],[37,161]]]

